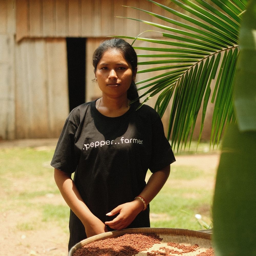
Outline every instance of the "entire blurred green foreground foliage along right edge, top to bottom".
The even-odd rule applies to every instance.
[[[223,138],[213,202],[216,256],[256,255],[256,0],[242,20],[234,86],[237,123]],[[230,66],[236,66],[234,51]],[[228,73],[227,80],[234,75]],[[232,97],[231,92],[227,98]],[[230,118],[230,109],[225,108]]]

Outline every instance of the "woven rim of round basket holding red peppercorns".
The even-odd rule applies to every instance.
[[[189,229],[180,229],[180,228],[130,228],[130,229],[122,229],[122,230],[115,230],[109,231],[106,233],[98,234],[89,238],[86,238],[79,243],[75,244],[68,253],[68,256],[72,256],[73,253],[78,250],[79,248],[83,247],[84,245],[94,242],[103,240],[106,238],[118,237],[124,234],[132,234],[132,233],[157,233],[157,234],[175,234],[175,235],[187,235],[193,237],[200,237],[205,239],[211,239],[211,234],[196,231],[196,230],[189,230]]]

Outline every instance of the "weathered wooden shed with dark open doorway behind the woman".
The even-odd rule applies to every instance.
[[[0,139],[58,137],[72,108],[100,97],[91,64],[99,42],[152,29],[118,16],[156,21],[124,6],[164,14],[146,0],[0,0]]]

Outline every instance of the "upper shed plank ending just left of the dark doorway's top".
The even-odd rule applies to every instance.
[[[66,37],[68,35],[68,12],[66,6],[68,0],[56,0],[56,36]]]

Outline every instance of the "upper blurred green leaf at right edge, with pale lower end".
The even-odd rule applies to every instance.
[[[244,15],[239,37],[234,107],[240,131],[256,131],[256,4],[253,3]]]

